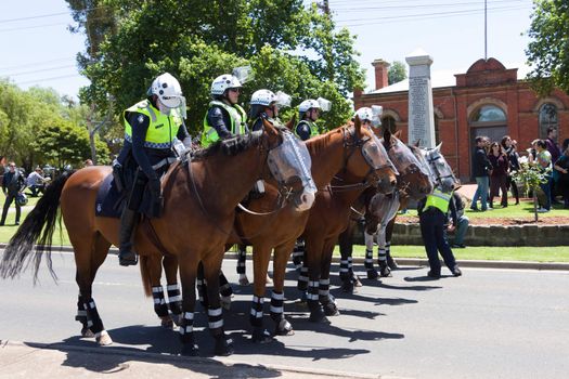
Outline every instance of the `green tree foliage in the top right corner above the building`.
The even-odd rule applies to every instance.
[[[526,49],[532,66],[528,78],[541,94],[554,88],[569,93],[569,2],[534,0]]]

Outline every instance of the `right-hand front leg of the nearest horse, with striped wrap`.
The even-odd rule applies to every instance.
[[[210,251],[202,261],[204,266],[204,278],[207,283],[207,298],[209,306],[207,309],[207,318],[209,332],[216,340],[216,355],[233,354],[233,341],[227,337],[223,329],[223,310],[219,298],[219,275],[221,273],[221,261],[225,252],[223,246],[219,251]]]

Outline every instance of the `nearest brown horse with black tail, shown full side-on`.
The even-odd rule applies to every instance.
[[[211,284],[208,309],[209,329],[216,339],[216,354],[230,354],[231,340],[223,330],[219,305],[218,274],[224,244],[231,233],[235,206],[245,197],[259,178],[270,178],[269,171],[281,174],[282,184],[297,182],[303,169],[297,160],[280,161],[271,167],[268,157],[283,149],[305,148],[290,139],[286,129],[276,129],[264,122],[260,132],[240,135],[218,142],[197,153],[189,164],[174,164],[163,181],[164,212],[158,219],[145,219],[135,233],[134,249],[140,254],[173,256],[180,264],[182,282],[183,318],[180,337],[182,353],[197,354],[193,334],[195,308],[195,277],[199,262],[204,264],[206,279]],[[273,162],[274,164],[274,162]],[[287,173],[284,173],[286,170]],[[61,212],[74,247],[79,286],[78,316],[101,344],[112,340],[104,329],[92,298],[92,283],[112,244],[118,244],[119,220],[95,215],[95,199],[109,167],[89,167],[55,180],[44,196],[26,218],[5,249],[0,264],[2,277],[14,277],[35,261],[36,276],[43,254],[51,267],[51,238]],[[295,184],[295,188],[301,187]],[[311,198],[303,191],[295,191],[299,210],[311,206]],[[308,201],[306,201],[308,199]],[[313,197],[312,197],[313,199]],[[39,241],[34,252],[33,244]]]

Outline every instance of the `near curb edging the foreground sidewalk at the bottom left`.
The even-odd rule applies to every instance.
[[[179,363],[179,362],[185,362],[185,363],[195,363],[196,365],[204,365],[204,366],[210,366],[216,367],[219,364],[229,365],[229,366],[240,366],[240,367],[246,367],[249,366],[250,368],[257,368],[257,369],[270,369],[270,370],[279,370],[279,371],[285,371],[289,374],[308,374],[308,375],[314,375],[314,376],[322,376],[327,378],[354,378],[354,379],[378,379],[380,376],[378,375],[366,375],[366,374],[359,374],[359,373],[348,373],[348,371],[337,371],[337,370],[327,370],[327,369],[314,369],[314,368],[302,368],[302,367],[290,367],[290,366],[284,366],[284,365],[271,365],[271,364],[262,364],[262,365],[251,365],[248,363],[240,362],[240,361],[233,361],[231,358],[225,357],[199,357],[199,356],[183,356],[183,355],[167,355],[167,354],[159,354],[159,353],[151,353],[145,351],[133,351],[133,350],[127,350],[129,348],[109,348],[109,347],[96,347],[96,348],[85,348],[85,347],[75,347],[69,345],[65,343],[42,343],[42,342],[21,342],[21,341],[1,341],[0,340],[1,348],[5,348],[7,345],[13,345],[13,347],[20,347],[20,348],[26,348],[26,349],[38,349],[38,350],[56,350],[56,351],[64,351],[64,352],[79,352],[79,353],[89,353],[89,354],[100,354],[100,355],[114,355],[114,356],[127,356],[137,358],[141,362],[152,362],[152,363]],[[86,355],[86,360],[88,356]],[[390,377],[396,378],[396,377]]]

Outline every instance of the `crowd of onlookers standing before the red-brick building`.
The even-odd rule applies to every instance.
[[[513,181],[513,172],[520,170],[520,161],[540,168],[545,182],[540,185],[539,212],[548,212],[553,204],[562,204],[569,209],[569,139],[565,140],[561,148],[556,143],[557,130],[547,129],[547,138],[534,140],[527,149],[527,158],[520,158],[516,140],[504,135],[500,142],[490,141],[487,136],[477,136],[473,154],[473,172],[476,178],[477,190],[470,209],[487,211],[494,208],[494,198],[500,197],[500,206],[508,206],[508,191],[519,204],[519,188]],[[480,208],[478,208],[478,201]]]

